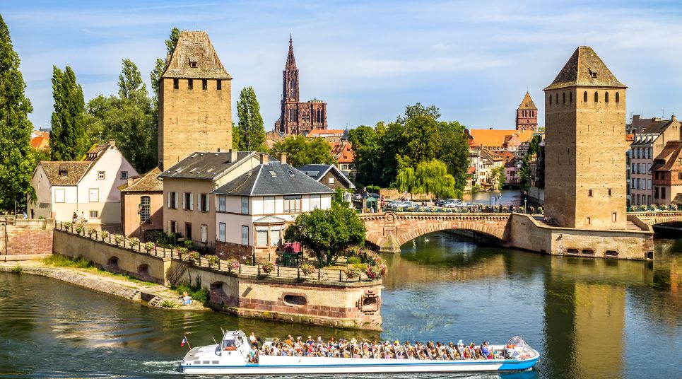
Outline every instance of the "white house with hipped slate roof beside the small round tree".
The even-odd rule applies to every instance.
[[[216,252],[275,260],[286,227],[313,209],[331,208],[334,192],[292,166],[271,160],[211,192],[216,195]]]

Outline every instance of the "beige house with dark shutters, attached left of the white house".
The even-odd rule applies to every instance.
[[[172,165],[158,176],[163,180],[164,231],[197,247],[215,248],[216,195],[211,192],[267,159],[252,151],[195,152]]]

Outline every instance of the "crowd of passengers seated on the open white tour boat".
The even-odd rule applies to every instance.
[[[254,339],[252,339],[253,341]],[[276,338],[271,344],[263,344],[260,349],[257,348],[257,344],[253,344],[252,351],[249,354],[252,363],[257,363],[259,355],[452,361],[462,359],[501,359],[502,351],[494,351],[488,342],[483,342],[479,346],[476,346],[474,342],[464,345],[461,339],[457,342],[457,345],[452,342],[449,342],[449,344],[441,344],[440,342],[427,342],[423,344],[418,341],[414,344],[406,341],[401,345],[398,341],[382,343],[368,339],[358,341],[355,338],[350,341],[343,338],[336,341],[334,337],[324,342],[322,337],[317,337],[317,340],[314,340],[311,336],[308,336],[307,340],[303,341],[301,337],[294,339],[289,335],[283,341]]]

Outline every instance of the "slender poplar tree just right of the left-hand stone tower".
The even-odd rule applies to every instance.
[[[240,91],[239,100],[237,100],[237,117],[239,117],[239,124],[236,129],[239,131],[233,133],[233,147],[242,151],[265,151],[265,128],[263,117],[261,117],[261,107],[254,89],[250,86]]]

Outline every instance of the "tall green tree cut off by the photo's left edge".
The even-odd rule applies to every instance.
[[[30,148],[33,112],[24,94],[26,83],[19,71],[19,56],[14,51],[9,29],[0,16],[0,210],[24,208],[26,194],[33,197],[30,185],[33,156]]]

